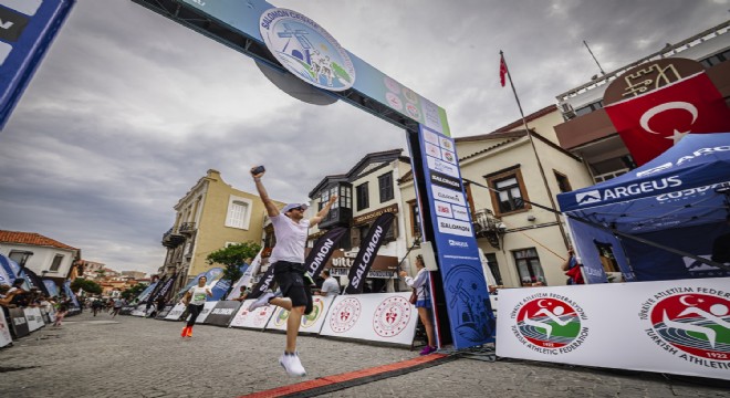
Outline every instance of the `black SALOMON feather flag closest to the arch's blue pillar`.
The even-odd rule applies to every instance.
[[[363,286],[365,285],[365,277],[367,272],[371,270],[375,258],[377,256],[377,251],[385,240],[385,235],[395,220],[395,214],[392,212],[384,212],[378,217],[371,230],[367,232],[367,237],[363,239],[359,244],[359,251],[357,256],[353,262],[353,265],[350,268],[350,273],[347,279],[347,287],[345,287],[346,294],[358,294],[363,292]]]

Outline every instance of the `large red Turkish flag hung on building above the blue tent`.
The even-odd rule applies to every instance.
[[[687,134],[730,132],[730,109],[705,72],[605,109],[639,166]]]

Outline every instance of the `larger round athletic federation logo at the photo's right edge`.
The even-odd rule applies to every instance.
[[[644,302],[639,318],[649,323],[645,332],[661,349],[692,364],[723,368],[730,363],[729,296],[715,289],[676,287]]]

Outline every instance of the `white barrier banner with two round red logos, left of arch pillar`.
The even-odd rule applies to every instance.
[[[410,292],[338,295],[320,332],[323,336],[411,345],[418,311]]]

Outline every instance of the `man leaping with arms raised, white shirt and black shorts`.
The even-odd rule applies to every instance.
[[[304,283],[304,245],[306,244],[307,230],[322,221],[330,208],[337,200],[334,195],[327,203],[314,217],[304,219],[306,203],[289,203],[281,211],[269,198],[267,189],[261,182],[265,171],[251,168],[251,176],[259,191],[259,197],[267,208],[267,213],[274,227],[277,244],[269,258],[270,266],[274,268],[274,280],[281,289],[283,297],[274,297],[273,293],[262,294],[255,302],[251,303],[249,311],[253,311],[267,304],[278,305],[290,311],[286,320],[286,347],[284,354],[279,358],[279,364],[284,367],[290,376],[306,376],[306,370],[299,359],[296,352],[296,335],[302,323],[302,315],[307,302],[312,300],[312,293]]]

